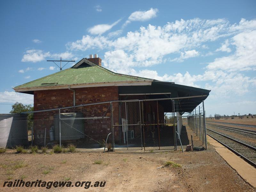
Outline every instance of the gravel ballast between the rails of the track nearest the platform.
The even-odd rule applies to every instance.
[[[236,150],[241,155],[245,156],[246,158],[250,159],[252,162],[256,163],[256,151],[255,150],[247,148],[246,146],[241,145],[241,144],[239,144],[235,141],[229,140],[228,138],[225,138],[225,137],[223,137],[223,136],[221,136],[217,133],[211,132],[209,130],[207,130],[207,132],[208,132],[208,134],[212,135],[217,140],[220,140],[221,142],[223,142],[227,146]]]

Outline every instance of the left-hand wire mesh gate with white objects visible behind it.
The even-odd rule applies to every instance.
[[[115,150],[142,150],[140,100],[113,101],[111,112]]]

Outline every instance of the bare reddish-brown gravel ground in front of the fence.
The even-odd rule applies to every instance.
[[[94,164],[102,160],[102,164]],[[164,166],[173,161],[181,167]],[[106,181],[104,188],[87,191],[156,191],[156,192],[244,192],[255,191],[215,152],[116,151],[66,154],[0,154],[0,191],[85,191],[84,188],[3,188],[3,183],[21,179],[33,181]],[[26,166],[10,167],[23,162]],[[49,171],[49,172],[45,172]],[[12,178],[12,179],[10,179]]]

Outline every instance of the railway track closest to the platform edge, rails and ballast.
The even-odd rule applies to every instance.
[[[223,135],[219,132],[213,131],[211,129],[208,129],[207,135],[212,137],[212,139],[218,141],[220,144],[227,147],[229,150],[234,152],[236,155],[243,158],[246,162],[251,164],[256,168],[256,148],[248,145],[244,142],[241,142],[239,140],[233,139],[231,137],[228,137],[226,135]]]

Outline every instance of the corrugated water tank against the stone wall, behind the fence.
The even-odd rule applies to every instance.
[[[54,116],[54,138],[55,140],[77,140],[84,138],[83,113],[61,113]],[[60,120],[60,121],[59,121]]]

